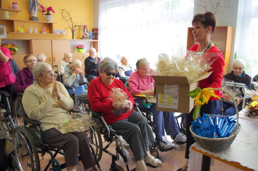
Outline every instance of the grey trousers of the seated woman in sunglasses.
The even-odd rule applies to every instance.
[[[154,146],[146,117],[136,111],[133,111],[128,118],[111,124],[111,127],[129,143],[135,161],[147,156],[147,147]]]

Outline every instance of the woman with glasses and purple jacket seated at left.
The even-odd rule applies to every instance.
[[[34,80],[32,70],[37,63],[36,56],[33,54],[28,54],[23,58],[22,61],[24,62],[25,67],[17,73],[13,87],[16,93],[19,91],[24,91],[28,86],[33,84]]]

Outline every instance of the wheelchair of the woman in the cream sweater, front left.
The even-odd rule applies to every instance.
[[[73,112],[76,112],[76,111],[73,111]],[[44,159],[44,156],[46,153],[48,153],[51,156],[51,159],[48,161],[48,164],[46,165],[44,171],[48,170],[50,165],[51,165],[50,170],[61,171],[61,169],[65,168],[66,167],[65,163],[60,165],[58,161],[55,159],[55,157],[58,154],[64,155],[64,153],[59,149],[56,149],[54,147],[51,147],[45,144],[44,134],[41,128],[41,122],[28,118],[26,113],[23,116],[23,120],[24,120],[24,126],[17,126],[12,132],[12,136],[14,137],[12,139],[12,143],[13,145],[15,145],[14,156],[15,156],[16,163],[18,163],[18,168],[20,170],[39,171],[41,169],[40,161]],[[28,123],[31,123],[32,126],[26,127]],[[40,130],[38,130],[36,126],[38,126]],[[94,132],[93,127],[90,127],[90,129],[87,131],[89,136],[89,141],[90,139],[94,139],[94,141],[93,140],[90,141],[90,148],[96,160],[98,170],[101,170],[98,164],[97,156],[94,152],[94,148],[91,146],[91,144],[94,144],[94,146],[98,146],[98,143],[96,143],[95,141],[95,138],[97,138],[97,136],[93,135],[93,132]],[[52,153],[52,151],[54,152],[54,154]],[[39,154],[40,154],[40,157],[39,157]],[[78,157],[80,160],[80,156]],[[97,168],[94,166],[93,170],[97,171]]]

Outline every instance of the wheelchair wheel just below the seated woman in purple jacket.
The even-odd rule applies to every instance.
[[[22,106],[22,99],[21,97],[16,97],[13,105],[12,105],[13,117],[15,126],[24,125],[23,124],[23,117],[25,116],[25,111]]]

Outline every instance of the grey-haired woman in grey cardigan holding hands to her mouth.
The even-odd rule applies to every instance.
[[[83,75],[83,71],[81,70],[81,61],[78,59],[72,60],[71,64],[67,65],[62,79],[65,86],[74,88],[77,100],[84,104],[88,104],[88,86],[86,84],[81,86],[79,85],[79,83],[87,82]],[[68,92],[73,93],[70,92],[70,90],[68,90]]]

